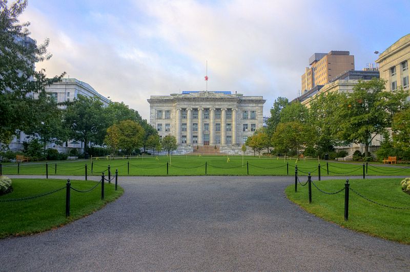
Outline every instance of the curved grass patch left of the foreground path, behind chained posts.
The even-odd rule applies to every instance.
[[[66,185],[58,179],[13,179],[13,192],[0,196],[0,200],[23,198],[51,192]],[[78,190],[87,190],[95,181],[72,180]],[[66,190],[24,201],[0,202],[0,238],[29,235],[67,224],[99,210],[106,203],[114,201],[124,190],[114,184],[105,183],[105,199],[101,200],[101,186],[89,193],[71,190],[70,217],[66,218]]]

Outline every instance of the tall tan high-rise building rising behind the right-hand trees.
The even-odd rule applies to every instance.
[[[355,57],[349,51],[314,53],[309,58],[310,67],[301,76],[301,93],[329,83],[332,78],[348,70],[355,70]]]

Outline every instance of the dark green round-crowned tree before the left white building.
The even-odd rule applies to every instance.
[[[103,143],[108,119],[103,102],[97,97],[78,95],[67,104],[64,119],[70,130],[70,138],[84,142],[84,154],[87,154],[89,142]]]

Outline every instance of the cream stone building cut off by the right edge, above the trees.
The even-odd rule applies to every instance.
[[[380,78],[387,80],[386,90],[396,90],[399,87],[408,90],[410,62],[410,34],[401,37],[379,55]]]

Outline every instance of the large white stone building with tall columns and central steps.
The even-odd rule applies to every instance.
[[[247,138],[263,126],[265,101],[262,96],[226,91],[151,96],[150,123],[160,137],[176,137],[179,154],[207,145],[236,154]]]

